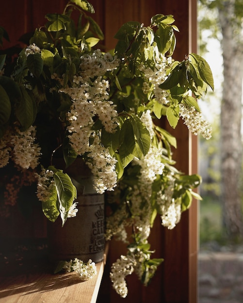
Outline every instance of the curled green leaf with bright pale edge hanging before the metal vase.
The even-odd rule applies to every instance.
[[[67,219],[68,210],[77,197],[76,187],[73,185],[70,177],[63,173],[62,170],[57,170],[54,173],[54,181],[57,189],[57,196],[59,199],[59,208],[63,225]]]

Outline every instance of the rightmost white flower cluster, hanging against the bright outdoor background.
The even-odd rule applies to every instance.
[[[212,128],[208,121],[204,120],[202,114],[196,111],[195,107],[188,107],[180,103],[180,116],[184,120],[184,124],[194,134],[202,134],[206,139],[211,138]]]

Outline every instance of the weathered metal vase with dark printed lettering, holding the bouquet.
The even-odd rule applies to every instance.
[[[105,248],[104,195],[95,191],[93,176],[81,159],[68,168],[68,174],[77,188],[78,212],[76,217],[67,218],[64,227],[60,217],[49,222],[49,259],[100,262]]]

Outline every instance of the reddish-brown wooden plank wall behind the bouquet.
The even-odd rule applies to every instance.
[[[149,24],[156,14],[175,16],[179,28],[174,58],[182,61],[189,52],[196,51],[196,0],[90,0],[96,15],[94,18],[105,33],[105,45],[114,47],[113,36],[127,21]],[[8,30],[11,43],[15,45],[22,33],[32,31],[45,23],[47,13],[62,12],[66,0],[18,0],[2,1],[0,5],[0,26]],[[178,149],[174,151],[178,169],[185,173],[196,172],[196,138],[191,137],[180,121],[174,131]],[[129,294],[120,299],[111,288],[109,272],[104,276],[99,301],[106,303],[196,303],[197,302],[197,205],[194,202],[188,212],[182,214],[180,223],[173,230],[161,227],[159,220],[151,234],[151,249],[155,257],[165,259],[148,287],[142,287],[134,275],[128,277]],[[108,270],[119,250],[126,253],[124,246],[112,242],[108,258]]]

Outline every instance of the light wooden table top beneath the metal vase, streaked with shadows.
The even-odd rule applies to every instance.
[[[53,274],[45,244],[0,252],[0,303],[95,303],[107,250],[97,275],[85,282],[76,273]]]

